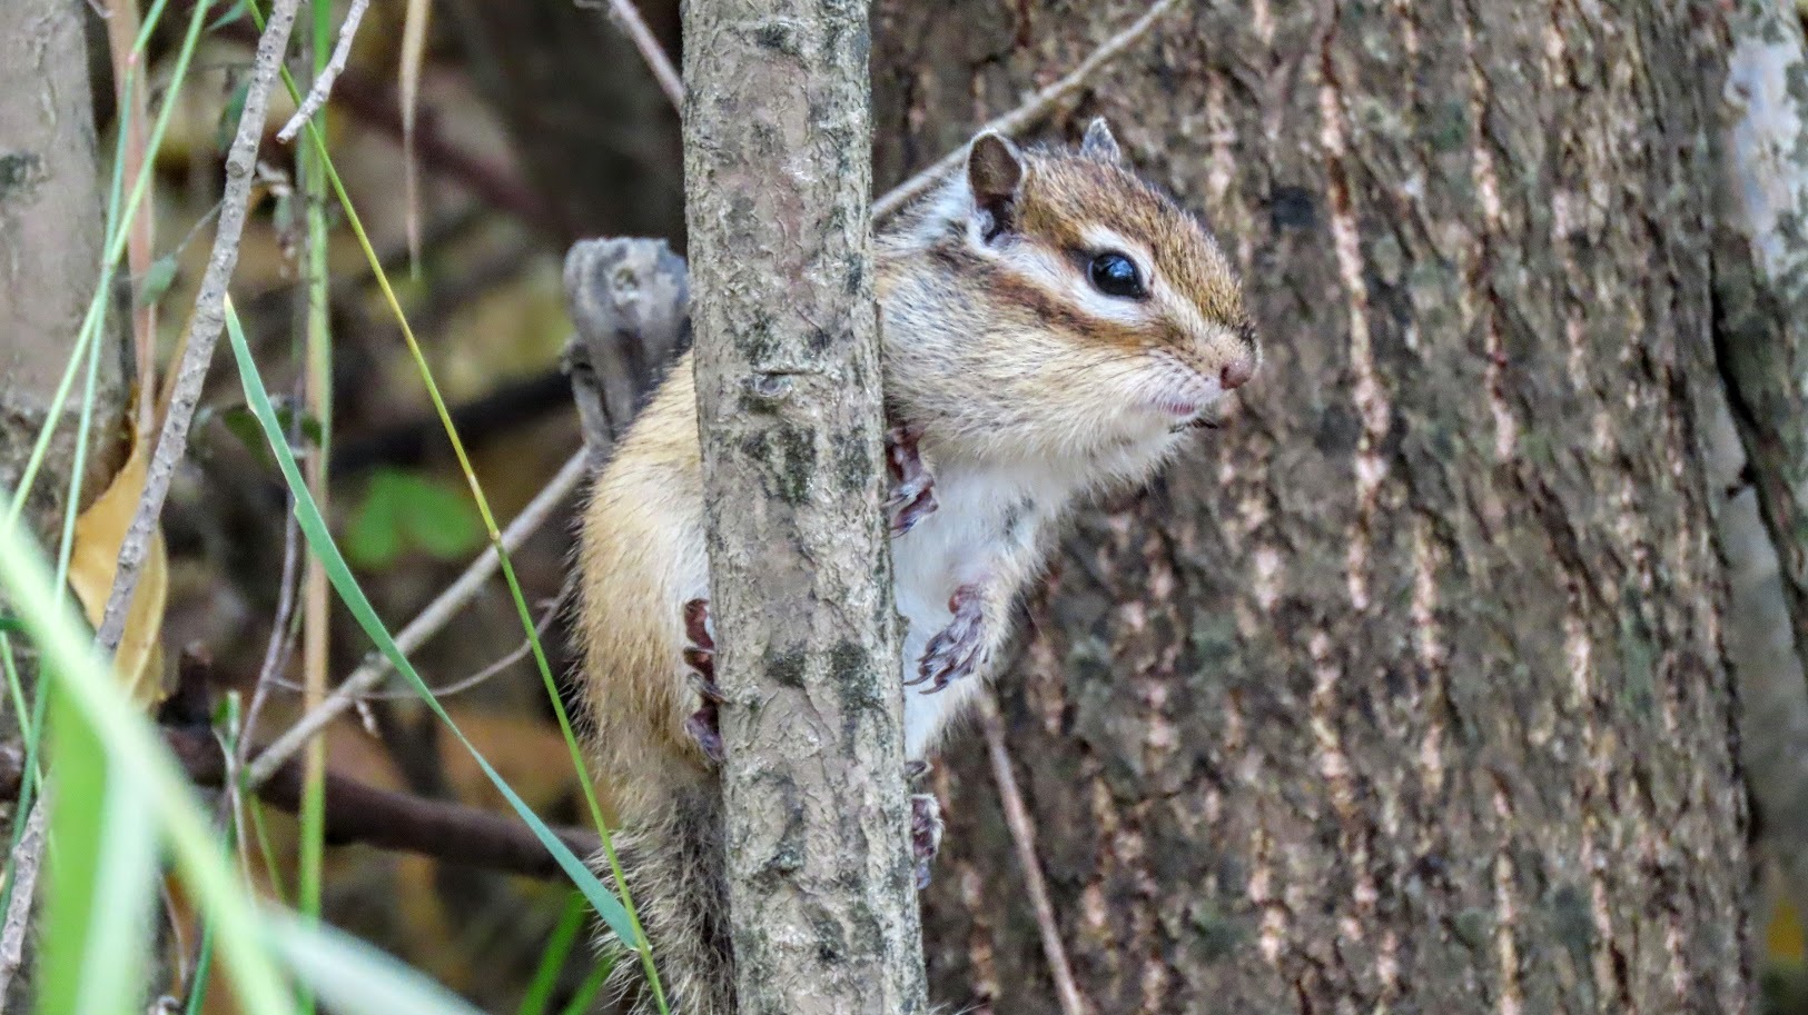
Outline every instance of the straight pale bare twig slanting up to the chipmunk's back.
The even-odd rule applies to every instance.
[[[586,453],[577,452],[571,459],[559,470],[559,475],[541,489],[533,500],[515,515],[515,520],[503,529],[503,547],[513,553],[528,536],[532,536],[551,515],[573,489],[577,489],[579,480],[584,479],[586,471]],[[457,576],[445,592],[439,592],[432,603],[421,610],[407,627],[396,634],[396,647],[403,654],[414,652],[428,638],[439,634],[439,630],[468,603],[483,583],[495,574],[499,558],[495,547],[483,551],[463,574]],[[345,683],[333,688],[320,708],[302,715],[282,737],[277,737],[273,744],[264,748],[264,753],[251,762],[246,773],[246,784],[251,787],[262,786],[286,760],[295,757],[309,739],[325,728],[334,717],[351,708],[360,701],[371,688],[378,684],[383,677],[391,674],[389,659],[381,656],[372,656],[363,665],[360,665]]]

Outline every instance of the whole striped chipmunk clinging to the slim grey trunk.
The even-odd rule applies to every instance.
[[[989,677],[1061,513],[1146,479],[1260,350],[1211,235],[1135,175],[1103,119],[1078,150],[980,134],[964,173],[875,237],[875,264],[904,739],[920,773]],[[591,751],[667,1001],[729,1015],[703,547],[687,352],[595,482],[579,629]],[[911,811],[922,883],[940,816],[929,795]]]

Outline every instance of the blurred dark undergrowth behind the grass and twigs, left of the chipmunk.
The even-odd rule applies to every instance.
[[[152,45],[152,108],[168,85],[188,4],[172,4]],[[678,117],[644,65],[600,11],[573,4],[430,5],[418,81],[414,159],[418,202],[405,199],[400,88],[405,0],[374,0],[327,114],[334,166],[385,262],[403,309],[454,412],[477,479],[506,520],[580,446],[560,352],[571,332],[560,284],[566,247],[580,237],[653,235],[682,242]],[[155,166],[159,260],[141,280],[165,307],[159,358],[168,361],[206,265],[210,222],[221,200],[231,141],[257,42],[244,7],[224,11],[202,38]],[[345,4],[334,4],[334,25]],[[676,4],[644,5],[649,25],[676,52]],[[300,38],[302,33],[298,31]],[[107,31],[90,16],[90,74],[99,150],[112,152]],[[598,58],[604,54],[607,58]],[[273,392],[300,376],[298,251],[306,233],[293,179],[295,146],[275,132],[295,112],[271,101],[233,298]],[[452,461],[441,424],[336,206],[327,208],[334,419],[331,522],[378,610],[400,627],[483,549],[483,524]],[[410,258],[409,229],[419,235]],[[304,421],[309,450],[318,426]],[[559,596],[571,549],[571,504],[513,554],[535,612]],[[212,654],[215,692],[250,697],[277,614],[284,571],[286,493],[244,408],[230,368],[213,370],[190,459],[165,511],[170,598],[165,657],[186,645]],[[523,643],[501,583],[479,594],[445,632],[414,654],[430,684],[452,684]],[[562,623],[544,645],[553,672],[571,666]],[[329,674],[360,661],[367,639],[334,601]],[[174,663],[172,663],[174,666]],[[286,679],[300,683],[297,652]],[[400,684],[398,684],[400,686]],[[553,824],[584,824],[566,746],[532,657],[503,666],[447,708],[501,775]],[[278,690],[259,722],[262,737],[302,712],[300,694]],[[329,733],[329,768],[362,782],[503,807],[503,800],[409,694],[376,697]],[[269,811],[271,863],[253,861],[260,885],[293,899],[298,824]],[[273,876],[271,876],[273,874]],[[548,939],[570,908],[562,883],[503,876],[360,845],[329,845],[324,916],[492,1011],[515,1011]],[[197,925],[186,907],[183,932]],[[557,1011],[589,972],[579,941],[555,977]],[[215,972],[215,979],[219,973]],[[204,1011],[231,1011],[224,981]],[[521,1008],[526,1010],[526,1008]]]

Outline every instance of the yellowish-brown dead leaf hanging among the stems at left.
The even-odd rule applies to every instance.
[[[132,526],[132,513],[145,493],[150,441],[134,442],[132,457],[114,475],[112,484],[76,518],[76,540],[69,554],[69,587],[81,600],[89,623],[99,625],[119,563],[119,544]],[[163,701],[163,609],[170,596],[170,560],[163,547],[163,527],[150,536],[150,553],[132,592],[125,634],[114,656],[114,670],[132,701],[145,708]]]

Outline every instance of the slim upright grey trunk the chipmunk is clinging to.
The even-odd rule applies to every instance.
[[[866,4],[691,0],[683,14],[739,1010],[917,1013]]]

